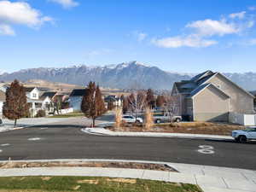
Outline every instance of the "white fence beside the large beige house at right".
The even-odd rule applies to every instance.
[[[238,125],[256,125],[256,114],[230,113],[230,123]]]

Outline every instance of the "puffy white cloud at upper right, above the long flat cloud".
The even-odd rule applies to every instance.
[[[226,20],[196,20],[189,23],[186,27],[194,28],[200,36],[223,36],[239,32],[239,28],[233,23],[227,23]]]

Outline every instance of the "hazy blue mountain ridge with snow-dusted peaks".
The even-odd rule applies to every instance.
[[[103,87],[130,89],[137,84],[143,89],[171,90],[176,81],[191,79],[193,73],[172,73],[159,67],[144,65],[137,61],[124,62],[104,67],[85,65],[72,67],[39,67],[23,69],[15,73],[0,74],[1,81],[19,79],[43,79],[52,82],[85,85],[96,81]],[[256,90],[256,73],[224,73],[246,90]]]

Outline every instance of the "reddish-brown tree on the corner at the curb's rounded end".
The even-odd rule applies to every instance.
[[[99,86],[96,86],[95,82],[90,82],[85,89],[81,111],[85,117],[92,119],[92,127],[95,127],[96,118],[106,112],[102,92]]]

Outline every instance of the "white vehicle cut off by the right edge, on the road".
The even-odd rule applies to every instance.
[[[247,143],[249,140],[256,140],[256,127],[247,127],[245,130],[232,131],[232,137],[239,143]]]

